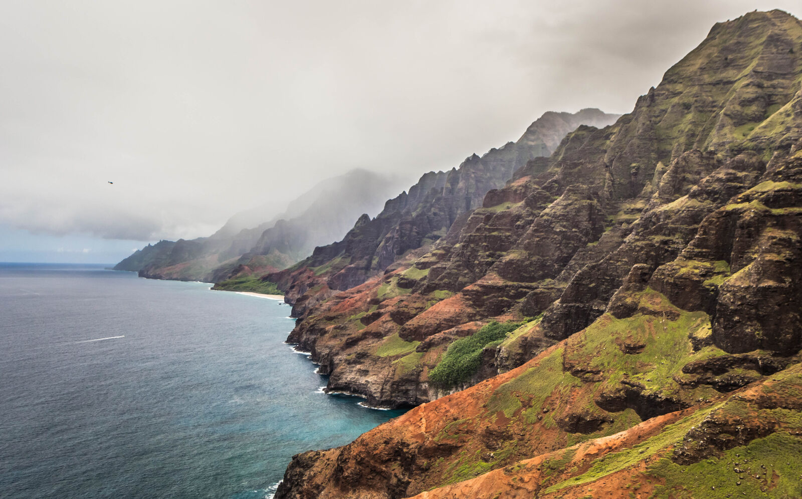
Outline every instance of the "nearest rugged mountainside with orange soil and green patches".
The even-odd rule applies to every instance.
[[[422,405],[277,497],[802,497],[800,87],[798,19],[716,24],[431,247],[310,287],[329,389]]]

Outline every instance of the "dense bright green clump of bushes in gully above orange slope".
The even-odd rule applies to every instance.
[[[493,321],[471,336],[460,338],[449,345],[446,355],[429,373],[429,379],[441,387],[453,387],[467,381],[479,369],[482,349],[489,343],[500,342],[507,333],[515,331],[521,323]]]

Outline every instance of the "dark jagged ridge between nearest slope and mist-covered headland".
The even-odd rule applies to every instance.
[[[431,246],[464,223],[467,214],[482,204],[485,193],[502,187],[527,161],[548,156],[562,137],[581,124],[604,126],[616,118],[598,109],[547,112],[516,142],[481,157],[474,154],[449,172],[428,172],[409,193],[387,201],[377,217],[359,218],[342,241],[315,248],[298,265],[267,278],[286,292],[294,314],[302,314],[308,306],[383,272],[408,252]]]

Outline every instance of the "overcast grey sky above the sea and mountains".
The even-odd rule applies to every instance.
[[[111,262],[351,168],[411,183],[545,111],[630,112],[715,22],[775,7],[802,10],[0,0],[0,261]]]

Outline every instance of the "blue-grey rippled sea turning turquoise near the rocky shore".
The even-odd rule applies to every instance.
[[[270,497],[290,456],[400,412],[320,392],[282,302],[0,264],[0,497]]]

